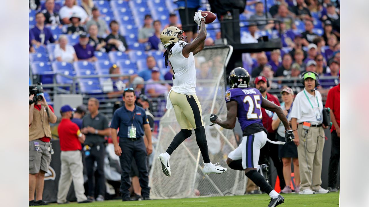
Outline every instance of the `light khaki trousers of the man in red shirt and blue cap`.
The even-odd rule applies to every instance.
[[[85,187],[83,186],[84,180],[81,152],[79,150],[62,151],[60,153],[60,159],[62,166],[59,179],[57,202],[66,202],[72,180],[77,202],[87,200],[87,197],[85,196]]]

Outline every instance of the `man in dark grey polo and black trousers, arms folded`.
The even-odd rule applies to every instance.
[[[110,136],[109,122],[106,116],[99,113],[99,100],[90,98],[87,102],[90,114],[83,117],[81,132],[86,135],[85,147],[83,151],[86,155],[86,168],[89,191],[87,198],[94,198],[94,175],[97,175],[96,185],[98,186],[96,201],[104,201],[105,195],[105,176],[104,176],[104,157],[105,157],[105,136]],[[97,164],[94,173],[95,161]]]

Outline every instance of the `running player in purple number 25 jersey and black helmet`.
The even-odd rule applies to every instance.
[[[242,67],[233,69],[228,77],[231,89],[225,93],[227,103],[227,119],[221,120],[212,114],[210,121],[225,129],[233,129],[236,117],[243,131],[242,143],[227,158],[227,164],[232,169],[244,170],[245,175],[271,197],[268,207],[275,207],[284,203],[284,197],[278,194],[266,182],[265,178],[256,171],[260,149],[266,141],[273,144],[284,142],[270,141],[262,123],[261,107],[275,112],[286,129],[286,141],[293,141],[294,135],[283,110],[274,103],[263,98],[256,88],[249,88],[249,73]]]

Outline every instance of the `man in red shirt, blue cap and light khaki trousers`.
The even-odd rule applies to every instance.
[[[73,111],[73,108],[69,105],[64,105],[60,109],[62,120],[58,126],[58,134],[61,150],[61,173],[56,200],[58,204],[68,203],[66,199],[72,180],[77,203],[92,202],[85,196],[85,187],[83,186],[81,143],[85,141],[86,137],[81,133],[77,124],[70,120],[73,116]]]

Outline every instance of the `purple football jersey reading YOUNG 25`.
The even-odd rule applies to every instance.
[[[256,88],[231,88],[225,92],[225,102],[237,102],[237,117],[242,131],[251,124],[263,127],[261,114],[262,95]]]

